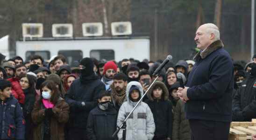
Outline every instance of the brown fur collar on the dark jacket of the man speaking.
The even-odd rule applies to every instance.
[[[221,40],[217,40],[215,42],[213,42],[212,44],[210,44],[205,51],[201,52],[199,51],[195,56],[194,56],[194,60],[199,60],[199,58],[201,57],[202,59],[205,59],[208,55],[210,55],[213,51],[223,48],[224,44],[222,43]]]

